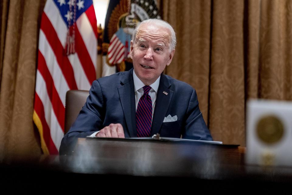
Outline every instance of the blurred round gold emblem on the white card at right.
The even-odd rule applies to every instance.
[[[282,121],[276,116],[269,115],[259,119],[256,133],[260,140],[266,144],[275,144],[280,141],[284,134]]]

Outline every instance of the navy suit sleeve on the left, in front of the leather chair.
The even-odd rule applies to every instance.
[[[59,153],[68,154],[75,147],[78,137],[86,137],[103,128],[103,93],[97,80],[92,83],[89,96],[77,119],[64,135]]]

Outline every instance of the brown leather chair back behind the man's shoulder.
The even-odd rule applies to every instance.
[[[66,93],[65,102],[65,132],[67,133],[76,120],[80,110],[84,106],[89,91],[85,90],[69,90]]]

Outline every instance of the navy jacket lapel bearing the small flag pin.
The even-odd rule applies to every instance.
[[[159,132],[166,112],[169,108],[170,101],[173,95],[173,91],[169,89],[170,86],[171,83],[169,82],[167,77],[162,74],[159,81],[155,110],[152,119],[151,136]]]

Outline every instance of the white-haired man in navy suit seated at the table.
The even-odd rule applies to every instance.
[[[162,74],[175,53],[176,36],[163,20],[148,19],[134,30],[134,69],[100,78],[61,142],[60,154],[76,137],[176,137],[212,140],[190,85]]]

